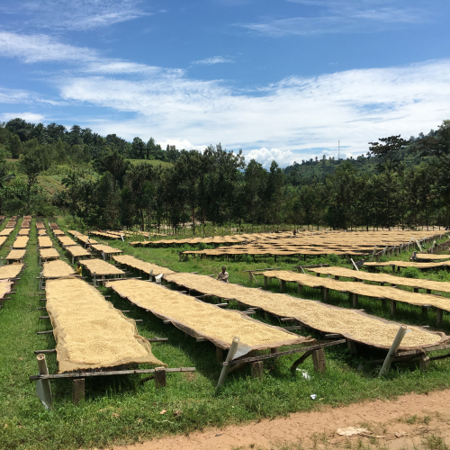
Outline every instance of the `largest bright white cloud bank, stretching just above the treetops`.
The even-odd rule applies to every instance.
[[[260,87],[258,96],[164,72],[139,81],[70,77],[59,88],[67,102],[136,113],[132,121],[111,124],[128,139],[148,139],[151,130],[162,141],[259,145],[277,148],[281,164],[290,162],[292,155],[284,152],[293,150],[302,150],[299,160],[323,149],[336,157],[338,139],[347,152],[365,153],[369,141],[392,134],[408,138],[450,117],[449,60],[291,77]]]

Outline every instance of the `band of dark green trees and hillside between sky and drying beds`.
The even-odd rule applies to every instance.
[[[410,139],[380,137],[361,151],[285,169],[274,160],[266,170],[220,144],[163,149],[153,138],[129,142],[17,118],[0,124],[0,211],[70,213],[86,226],[112,229],[190,223],[193,233],[206,223],[272,229],[450,223],[450,121]]]

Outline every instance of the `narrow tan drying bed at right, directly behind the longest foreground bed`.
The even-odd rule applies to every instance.
[[[392,286],[378,286],[355,282],[341,282],[328,277],[319,277],[305,274],[295,274],[285,270],[263,272],[265,276],[278,278],[286,282],[302,284],[312,288],[325,287],[338,292],[356,293],[365,297],[383,298],[396,302],[409,303],[410,305],[432,305],[441,310],[450,311],[450,300],[446,297],[437,297],[428,293],[411,293],[404,289],[396,289]]]

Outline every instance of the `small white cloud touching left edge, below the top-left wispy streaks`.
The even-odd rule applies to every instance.
[[[20,58],[26,63],[42,61],[83,61],[96,60],[93,49],[74,47],[53,40],[45,34],[17,34],[0,31],[0,55]]]

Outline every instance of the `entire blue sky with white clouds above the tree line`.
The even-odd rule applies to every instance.
[[[281,166],[450,119],[450,4],[3,0],[0,121]]]

